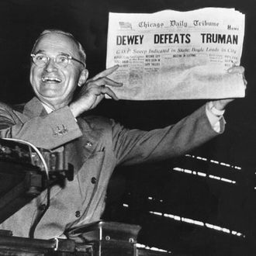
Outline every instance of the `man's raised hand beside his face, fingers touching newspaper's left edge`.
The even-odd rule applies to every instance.
[[[109,95],[112,99],[118,100],[116,94],[112,92],[109,86],[120,87],[123,86],[123,84],[107,78],[107,76],[116,71],[118,67],[118,65],[109,67],[86,81],[78,97],[71,102],[70,109],[74,117],[81,115],[82,112],[94,109],[95,106],[102,101],[105,94]]]

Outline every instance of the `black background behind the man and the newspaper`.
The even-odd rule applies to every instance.
[[[237,186],[207,182],[188,175],[173,174],[176,160],[119,168],[112,179],[105,217],[143,226],[140,240],[151,246],[177,253],[195,255],[251,255],[254,251],[254,172],[256,166],[256,95],[255,26],[256,2],[225,0],[1,0],[0,1],[0,100],[26,102],[32,98],[29,86],[29,54],[34,40],[43,29],[64,29],[84,45],[91,75],[106,67],[106,37],[109,12],[157,12],[163,9],[188,11],[202,7],[235,8],[246,15],[244,50],[241,64],[248,81],[245,99],[236,99],[225,113],[225,133],[193,154],[225,161],[242,167]],[[145,101],[114,102],[103,100],[95,113],[109,116],[125,126],[150,130],[175,123],[206,102]],[[178,160],[182,162],[182,160]],[[191,163],[195,168],[199,164]],[[205,167],[213,170],[210,165]],[[213,170],[214,171],[214,170]],[[112,192],[113,191],[113,192]],[[164,198],[166,213],[194,216],[195,220],[211,220],[246,234],[245,240],[171,220],[157,219],[146,209],[157,211],[157,203],[149,205],[150,193]],[[119,195],[119,196],[116,196]],[[122,202],[130,202],[130,209]],[[151,208],[150,208],[151,207]],[[178,215],[178,214],[177,214]],[[206,233],[207,234],[206,234]]]

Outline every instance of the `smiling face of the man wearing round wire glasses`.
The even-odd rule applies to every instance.
[[[78,47],[71,38],[60,33],[48,33],[36,44],[33,54],[43,53],[50,57],[45,67],[37,67],[32,63],[30,68],[30,83],[36,96],[55,109],[67,106],[71,102],[74,90],[84,83],[86,78],[82,64],[70,61],[67,67],[57,67],[54,57],[58,54],[69,54],[81,60]],[[84,70],[84,71],[82,71]],[[87,74],[87,73],[86,73]]]

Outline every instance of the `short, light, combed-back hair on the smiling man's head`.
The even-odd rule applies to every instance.
[[[71,40],[74,41],[74,43],[77,45],[78,47],[78,54],[79,56],[81,57],[81,61],[83,63],[85,63],[86,61],[86,54],[85,54],[85,49],[84,47],[82,47],[81,43],[78,42],[78,40],[76,40],[74,38],[74,36],[71,34],[71,33],[68,33],[68,32],[65,32],[63,30],[60,30],[60,29],[45,29],[43,30],[42,33],[40,33],[40,35],[37,37],[36,39],[36,42],[34,43],[33,45],[33,48],[32,48],[32,51],[31,51],[31,54],[33,54],[33,51],[36,47],[36,44],[38,43],[38,41],[46,34],[50,34],[50,33],[57,33],[57,34],[61,34],[61,35],[64,35],[64,36],[68,36],[69,38],[71,38]]]

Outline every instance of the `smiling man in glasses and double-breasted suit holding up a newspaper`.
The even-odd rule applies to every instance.
[[[223,112],[231,101],[217,100],[164,129],[128,130],[112,119],[83,116],[104,95],[117,97],[111,87],[122,86],[107,76],[110,67],[88,79],[85,50],[60,30],[45,30],[32,50],[30,83],[36,97],[19,108],[1,104],[1,137],[27,140],[36,147],[64,150],[74,165],[74,181],[47,193],[5,220],[0,229],[20,237],[65,237],[68,230],[100,219],[106,189],[119,164],[137,164],[185,154],[223,132]],[[231,73],[244,73],[234,67]],[[77,86],[82,86],[73,99]]]

